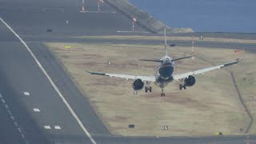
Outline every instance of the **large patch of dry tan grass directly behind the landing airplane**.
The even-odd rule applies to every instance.
[[[71,48],[64,49],[65,45]],[[138,59],[161,58],[164,54],[162,46],[78,43],[47,43],[47,46],[90,100],[90,104],[112,134],[197,136],[212,135],[217,131],[222,131],[223,134],[240,134],[239,129],[245,130],[248,126],[249,118],[238,100],[227,70],[197,75],[195,86],[188,90],[179,90],[178,82],[171,83],[166,86],[166,98],[160,97],[161,90],[153,83],[152,93],[145,94],[142,90],[134,96],[132,82],[90,75],[86,70],[154,75],[155,63],[139,62]],[[242,94],[256,94],[253,87],[255,69],[250,66],[250,62],[255,62],[254,54],[236,55],[232,50],[210,48],[197,48],[196,51],[199,57],[215,64],[246,57],[243,62],[229,70],[233,70],[238,77]],[[184,56],[184,52],[190,53],[190,48],[178,47],[170,50],[174,58]],[[212,66],[199,58],[194,61],[178,61],[176,65],[176,73]],[[253,85],[248,84],[249,81]],[[135,128],[128,129],[129,124],[134,124]],[[163,130],[165,125],[169,126],[169,130]]]

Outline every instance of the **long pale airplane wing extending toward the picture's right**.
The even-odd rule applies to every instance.
[[[207,71],[218,70],[218,69],[221,69],[222,67],[231,66],[231,65],[237,64],[238,62],[241,62],[241,61],[242,60],[237,60],[237,61],[234,61],[234,62],[229,62],[229,63],[225,63],[225,64],[218,65],[218,66],[212,66],[212,67],[208,67],[208,68],[201,69],[201,70],[190,71],[190,72],[187,72],[185,74],[174,74],[173,78],[175,80],[180,80],[182,78],[187,78],[190,75],[204,74]]]

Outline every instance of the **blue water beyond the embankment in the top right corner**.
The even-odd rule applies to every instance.
[[[256,33],[256,0],[129,0],[170,27]]]

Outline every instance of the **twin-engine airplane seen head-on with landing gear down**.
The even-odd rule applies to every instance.
[[[138,75],[127,75],[127,74],[108,74],[108,73],[99,73],[99,72],[90,72],[87,71],[90,74],[95,74],[95,75],[102,75],[102,76],[109,76],[110,78],[126,78],[134,80],[132,87],[134,89],[134,94],[137,94],[137,90],[142,90],[144,87],[144,82],[146,81],[146,86],[145,86],[145,92],[147,93],[148,91],[152,91],[152,87],[150,86],[150,82],[154,82],[154,84],[162,89],[161,97],[165,97],[166,94],[164,93],[164,87],[168,85],[168,83],[173,82],[174,80],[180,81],[181,84],[179,85],[179,89],[186,90],[186,86],[194,86],[195,84],[195,78],[193,75],[196,74],[204,74],[207,71],[210,70],[218,70],[222,67],[226,66],[231,66],[234,64],[237,64],[238,62],[241,62],[242,59],[237,59],[234,62],[228,62],[222,65],[218,66],[211,66],[207,67],[205,69],[201,70],[195,70],[195,71],[190,71],[186,72],[184,74],[174,74],[174,68],[175,68],[175,61],[182,60],[185,58],[192,58],[193,56],[187,56],[183,58],[171,58],[168,55],[168,50],[166,48],[166,29],[165,29],[165,51],[166,54],[160,58],[159,60],[154,60],[154,59],[139,59],[140,61],[146,61],[146,62],[158,62],[157,69],[155,72],[154,76],[138,76]]]

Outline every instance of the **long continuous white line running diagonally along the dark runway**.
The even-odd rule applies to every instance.
[[[0,20],[2,21],[2,23],[4,23],[8,29],[22,42],[22,44],[26,47],[26,50],[29,51],[29,53],[31,54],[32,58],[34,58],[34,61],[38,64],[39,68],[42,70],[43,74],[46,75],[46,78],[48,78],[50,84],[54,87],[54,90],[56,90],[56,92],[58,93],[59,97],[62,98],[62,101],[65,103],[66,107],[70,110],[70,113],[73,115],[73,117],[75,118],[75,120],[78,122],[78,125],[82,128],[82,130],[85,132],[86,136],[88,138],[90,138],[90,141],[93,144],[96,144],[96,142],[94,141],[94,138],[92,138],[92,136],[90,135],[90,133],[88,132],[88,130],[86,130],[86,127],[82,124],[81,120],[78,118],[78,115],[74,113],[74,110],[71,108],[70,104],[66,101],[66,98],[63,97],[62,93],[58,90],[58,87],[54,84],[53,80],[50,78],[49,74],[47,74],[46,70],[43,68],[42,64],[38,61],[38,58],[35,57],[34,53],[30,50],[29,46],[26,45],[26,42],[24,42],[22,40],[22,38],[20,38],[18,36],[18,34],[2,19],[0,18]]]

